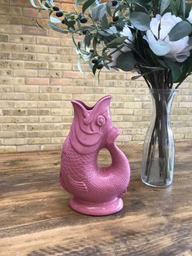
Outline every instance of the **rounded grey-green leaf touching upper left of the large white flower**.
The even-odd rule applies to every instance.
[[[136,29],[146,31],[150,29],[150,16],[145,12],[134,11],[130,15],[130,21]]]

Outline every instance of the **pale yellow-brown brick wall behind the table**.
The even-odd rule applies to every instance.
[[[58,5],[64,1],[58,1]],[[94,104],[111,94],[111,115],[120,128],[119,143],[142,142],[151,117],[145,82],[130,73],[89,67],[80,73],[69,36],[46,28],[46,12],[37,15],[28,0],[0,0],[0,152],[60,148],[72,121],[71,99]],[[70,0],[63,6],[72,8]],[[172,109],[176,139],[192,139],[192,77],[183,83]]]

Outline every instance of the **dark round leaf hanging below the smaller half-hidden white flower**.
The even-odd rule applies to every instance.
[[[116,67],[124,71],[131,71],[136,63],[132,51],[124,52],[116,59]]]

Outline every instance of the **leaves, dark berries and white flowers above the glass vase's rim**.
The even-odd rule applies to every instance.
[[[76,0],[74,11],[29,1],[49,12],[51,29],[72,33],[94,75],[103,67],[134,70],[133,79],[144,77],[150,88],[171,89],[192,73],[192,8],[185,0]]]

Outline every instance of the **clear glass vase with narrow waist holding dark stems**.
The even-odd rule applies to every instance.
[[[153,113],[142,157],[142,182],[155,188],[172,184],[175,145],[170,112],[176,89],[151,89]]]

